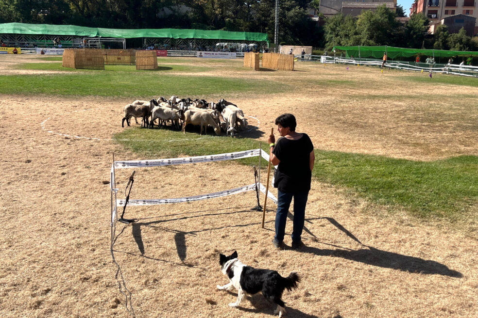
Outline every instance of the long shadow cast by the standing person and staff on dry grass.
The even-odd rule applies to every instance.
[[[293,216],[289,213],[289,218],[293,220]],[[432,261],[426,260],[419,257],[397,254],[393,252],[382,251],[376,249],[372,246],[367,246],[360,242],[352,233],[350,233],[346,228],[344,228],[340,223],[338,223],[333,218],[316,218],[316,219],[306,219],[306,222],[310,222],[310,220],[320,220],[324,219],[332,223],[337,229],[345,233],[349,238],[355,240],[359,244],[363,245],[365,248],[359,250],[352,250],[348,248],[342,248],[340,246],[328,244],[337,249],[319,249],[312,246],[304,246],[300,248],[298,251],[303,253],[311,253],[319,256],[332,256],[332,257],[342,257],[345,259],[353,260],[356,262],[369,264],[373,266],[383,267],[383,268],[390,268],[393,270],[402,270],[408,271],[410,273],[421,273],[421,274],[439,274],[444,276],[450,277],[457,277],[460,278],[463,275],[461,272],[456,270],[450,270],[446,265]],[[312,235],[315,239],[317,237],[312,234],[306,226],[304,226],[304,231],[308,234]],[[324,242],[321,242],[326,244]]]

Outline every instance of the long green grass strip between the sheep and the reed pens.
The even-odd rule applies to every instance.
[[[61,64],[45,63],[41,67],[61,68],[59,65]],[[124,65],[109,66],[126,67]],[[156,76],[159,74],[161,76]],[[0,76],[0,83],[0,94],[97,95],[128,98],[172,94],[191,97],[218,96],[240,92],[266,94],[285,92],[290,89],[287,84],[259,79],[177,76],[162,74],[158,71],[136,70],[131,72],[86,70],[75,74]]]

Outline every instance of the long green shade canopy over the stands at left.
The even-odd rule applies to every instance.
[[[209,31],[191,29],[104,29],[88,28],[76,25],[55,24],[28,24],[28,23],[1,23],[0,34],[51,34],[73,35],[88,37],[112,37],[112,38],[174,38],[174,39],[218,39],[237,41],[269,42],[267,33],[259,32],[232,32],[232,31]]]

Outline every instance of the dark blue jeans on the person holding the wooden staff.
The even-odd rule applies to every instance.
[[[294,219],[292,230],[292,241],[300,241],[304,219],[306,215],[308,191],[288,193],[277,191],[277,212],[275,213],[275,236],[276,241],[282,242],[286,230],[287,214],[289,213],[290,202],[294,198]]]

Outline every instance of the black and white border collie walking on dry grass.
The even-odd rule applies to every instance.
[[[274,314],[278,313],[282,317],[286,312],[285,303],[280,299],[282,292],[286,288],[289,291],[297,288],[297,283],[300,282],[295,271],[288,277],[282,277],[275,270],[260,270],[244,265],[239,261],[236,251],[230,256],[219,254],[219,264],[222,273],[229,278],[229,284],[218,285],[218,289],[232,290],[234,287],[238,290],[238,300],[229,303],[231,307],[239,307],[246,294],[253,295],[262,291],[269,302],[277,304]]]

